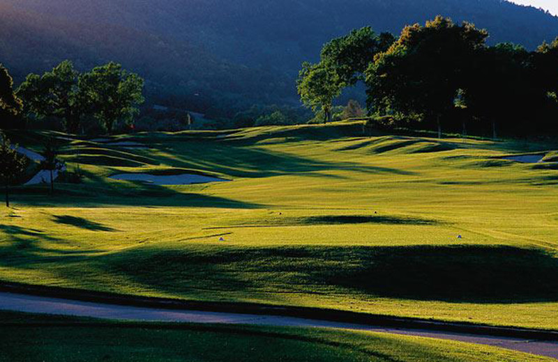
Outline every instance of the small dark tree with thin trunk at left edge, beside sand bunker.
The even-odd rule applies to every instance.
[[[6,134],[0,133],[0,179],[4,184],[6,207],[10,207],[10,186],[24,173],[29,160],[17,152]]]

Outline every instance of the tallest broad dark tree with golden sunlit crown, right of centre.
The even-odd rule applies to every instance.
[[[453,111],[455,94],[465,88],[472,59],[487,37],[473,24],[456,25],[441,16],[405,27],[366,71],[369,107],[435,119],[441,138],[442,118]]]

